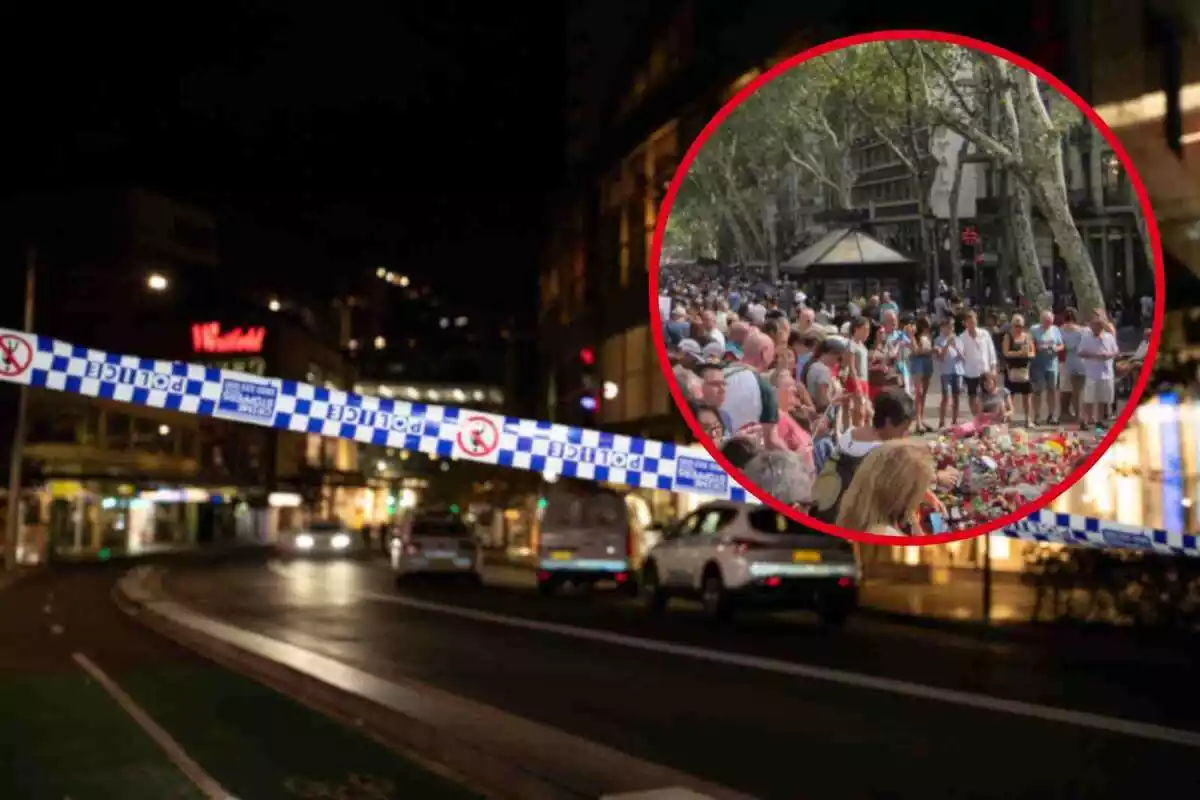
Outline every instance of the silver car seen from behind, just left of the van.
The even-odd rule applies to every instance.
[[[484,558],[474,533],[455,515],[421,515],[391,540],[396,583],[419,575],[458,576],[481,584]]]

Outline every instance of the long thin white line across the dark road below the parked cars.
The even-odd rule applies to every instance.
[[[628,636],[625,633],[575,627],[572,625],[563,625],[560,622],[542,622],[521,616],[508,616],[474,608],[463,608],[461,606],[434,603],[427,600],[406,597],[403,595],[361,593],[361,596],[368,600],[408,606],[409,608],[416,608],[420,610],[461,616],[462,619],[470,619],[478,622],[505,625],[508,627],[539,631],[541,633],[554,633],[557,636],[566,636],[587,642],[599,642],[601,644],[612,644],[622,648],[632,648],[635,650],[646,650],[649,652],[680,656],[684,658],[695,658],[696,661],[708,661],[712,663],[744,667],[746,669],[758,669],[780,675],[791,675],[793,678],[824,680],[834,684],[842,684],[845,686],[854,686],[857,688],[892,692],[894,694],[904,694],[923,700],[936,700],[938,703],[965,705],[985,711],[1013,714],[1046,722],[1061,722],[1081,728],[1093,728],[1096,730],[1118,733],[1128,736],[1136,736],[1139,739],[1168,741],[1175,745],[1200,748],[1200,732],[1168,728],[1165,726],[1152,724],[1148,722],[1122,720],[1100,714],[1091,714],[1088,711],[1074,711],[1072,709],[1056,708],[1052,705],[1025,703],[1022,700],[1009,700],[1000,697],[990,697],[988,694],[978,694],[976,692],[964,692],[954,688],[925,686],[923,684],[912,684],[910,681],[896,680],[894,678],[865,675],[863,673],[834,669],[830,667],[816,667],[794,661],[782,661],[780,658],[766,658],[762,656],[751,656],[740,652],[724,652],[721,650],[709,650],[707,648],[698,648],[690,644],[676,644],[673,642],[647,639],[637,636]]]

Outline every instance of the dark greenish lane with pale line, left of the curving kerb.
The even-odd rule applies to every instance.
[[[0,591],[0,798],[478,796],[146,631],[113,603],[118,576]]]

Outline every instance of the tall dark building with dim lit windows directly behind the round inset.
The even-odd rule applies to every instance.
[[[1050,53],[1055,61],[1048,66],[1072,74],[1067,53],[1048,49],[1067,41],[1061,31],[1069,28],[1068,8],[1048,14],[1044,6],[1054,4],[1024,0],[983,6],[684,0],[644,13],[616,4],[607,17],[589,7],[590,16],[569,24],[568,95],[587,102],[569,110],[568,181],[556,198],[541,275],[544,413],[613,431],[683,435],[648,327],[656,215],[689,144],[763,70],[838,36],[928,26],[985,37],[1043,61]],[[622,58],[580,58],[617,30],[628,43]],[[598,413],[578,403],[588,374],[582,350],[594,350],[598,378],[619,387]]]

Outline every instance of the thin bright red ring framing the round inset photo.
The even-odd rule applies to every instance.
[[[1139,175],[1136,167],[1129,158],[1129,154],[1126,152],[1124,146],[1117,139],[1112,130],[1100,119],[1091,106],[1088,106],[1084,100],[1075,94],[1067,84],[1056,78],[1055,76],[1046,72],[1044,68],[1033,64],[1028,59],[1025,59],[1015,53],[1006,50],[995,44],[988,42],[982,42],[968,36],[959,36],[956,34],[944,34],[941,31],[929,31],[929,30],[889,30],[889,31],[877,31],[874,34],[858,34],[854,36],[845,36],[842,38],[833,40],[832,42],[826,42],[811,49],[804,50],[792,58],[775,65],[763,74],[758,76],[754,82],[742,89],[732,100],[730,100],[722,108],[716,113],[716,115],[709,120],[708,125],[700,132],[696,140],[691,143],[688,148],[688,152],[684,155],[676,169],[674,178],[671,179],[671,186],[667,188],[666,197],[662,199],[662,206],[659,210],[658,221],[654,228],[654,240],[652,243],[650,253],[650,325],[654,336],[654,348],[659,356],[659,367],[662,369],[662,374],[666,378],[667,386],[671,390],[671,397],[676,402],[676,407],[683,414],[684,420],[688,422],[688,427],[691,428],[692,434],[696,437],[697,441],[708,451],[708,453],[720,464],[726,473],[733,476],[738,483],[740,483],[748,492],[758,498],[763,504],[779,511],[787,517],[804,524],[810,528],[824,531],[827,534],[833,534],[835,536],[841,536],[842,539],[850,539],[858,542],[865,542],[869,545],[898,545],[895,536],[882,536],[877,534],[866,534],[857,530],[848,530],[845,528],[839,528],[838,525],[830,525],[812,517],[808,517],[796,509],[787,506],[775,498],[770,497],[766,492],[758,489],[757,486],[746,480],[745,475],[736,468],[730,461],[721,455],[721,451],[712,443],[708,435],[701,429],[696,416],[691,413],[684,399],[683,391],[679,389],[678,383],[674,379],[674,374],[671,369],[670,359],[667,356],[666,342],[662,335],[662,315],[659,311],[659,270],[661,269],[662,258],[662,237],[666,233],[667,219],[671,216],[671,207],[674,205],[676,196],[679,193],[679,186],[683,184],[684,178],[688,174],[688,169],[691,163],[696,160],[701,148],[704,146],[704,142],[716,131],[716,128],[725,121],[733,109],[746,101],[751,95],[758,91],[760,88],[773,80],[776,76],[787,70],[791,70],[800,64],[808,61],[809,59],[815,59],[817,56],[832,53],[834,50],[840,50],[846,47],[852,47],[854,44],[865,44],[869,42],[881,42],[881,41],[896,41],[896,40],[925,40],[935,42],[947,42],[950,44],[958,44],[960,47],[968,47],[976,50],[982,50],[989,55],[994,55],[1004,59],[1024,70],[1032,72],[1038,76],[1042,80],[1049,83],[1055,89],[1057,89],[1064,97],[1070,100],[1087,119],[1097,127],[1097,130],[1104,136],[1104,139],[1112,148],[1112,152],[1121,160],[1122,167],[1124,167],[1126,174],[1133,184],[1134,190],[1138,192],[1138,200],[1141,203],[1142,212],[1146,217],[1146,230],[1150,235],[1151,243],[1154,251],[1154,325],[1150,338],[1150,349],[1146,353],[1146,362],[1142,366],[1141,374],[1138,377],[1138,384],[1134,386],[1133,395],[1129,396],[1128,402],[1121,410],[1116,425],[1109,431],[1109,433],[1100,440],[1100,444],[1096,447],[1087,461],[1084,462],[1082,467],[1073,471],[1064,481],[1058,483],[1057,487],[1050,489],[1043,494],[1037,500],[1027,503],[1019,507],[1016,511],[1008,513],[998,519],[994,519],[986,524],[977,525],[970,530],[955,531],[949,534],[932,534],[928,536],[916,536],[912,539],[906,539],[904,541],[905,546],[925,546],[925,545],[942,545],[946,542],[956,542],[965,539],[973,539],[974,536],[982,536],[984,534],[990,534],[1006,525],[1012,525],[1026,519],[1030,515],[1036,511],[1040,511],[1050,503],[1052,503],[1058,495],[1074,486],[1079,479],[1081,479],[1087,470],[1090,470],[1100,456],[1104,455],[1112,443],[1116,440],[1117,435],[1129,422],[1134,411],[1138,408],[1138,401],[1141,399],[1142,392],[1146,390],[1146,384],[1150,383],[1151,369],[1154,363],[1154,359],[1158,355],[1158,342],[1163,332],[1163,302],[1165,300],[1165,284],[1166,278],[1163,267],[1163,243],[1162,237],[1158,233],[1158,221],[1154,218],[1153,207],[1150,204],[1150,199],[1146,194],[1146,186],[1141,181],[1141,175]]]

